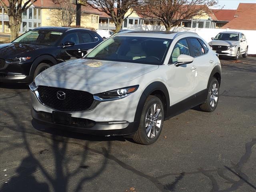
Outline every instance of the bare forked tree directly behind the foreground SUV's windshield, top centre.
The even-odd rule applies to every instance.
[[[122,28],[126,12],[132,8],[132,11],[128,15],[130,16],[133,12],[133,8],[138,6],[139,2],[140,0],[87,0],[90,6],[105,12],[114,20],[116,32],[120,31]],[[128,16],[126,16],[126,18]]]

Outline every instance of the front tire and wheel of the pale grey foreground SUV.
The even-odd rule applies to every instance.
[[[164,107],[156,96],[148,96],[144,104],[140,126],[133,135],[136,143],[150,145],[158,139],[164,124]]]

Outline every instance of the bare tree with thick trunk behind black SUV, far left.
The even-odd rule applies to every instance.
[[[4,1],[8,2],[9,5]],[[4,7],[9,16],[11,41],[19,36],[22,12],[26,11],[35,1],[36,0],[0,0],[0,4]]]

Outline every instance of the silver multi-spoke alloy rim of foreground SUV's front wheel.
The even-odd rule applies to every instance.
[[[154,103],[148,109],[145,119],[145,130],[148,138],[152,139],[159,134],[163,116],[159,104]]]

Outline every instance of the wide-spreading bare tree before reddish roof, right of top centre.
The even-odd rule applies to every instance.
[[[170,31],[172,26],[177,26],[182,20],[209,13],[208,7],[216,4],[216,0],[144,0],[135,10],[144,18],[161,20],[166,31]]]

